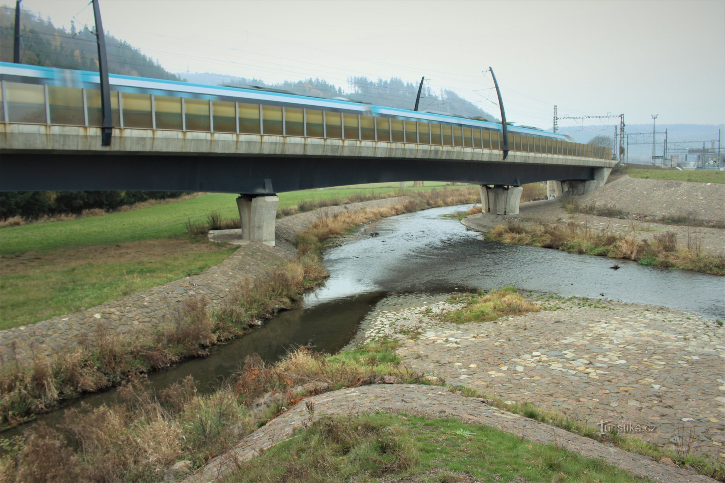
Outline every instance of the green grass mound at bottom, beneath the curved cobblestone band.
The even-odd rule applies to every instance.
[[[350,475],[361,482],[647,481],[483,425],[383,413],[314,421],[271,456],[241,463],[225,481],[347,481]]]

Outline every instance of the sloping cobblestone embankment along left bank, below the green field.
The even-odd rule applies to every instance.
[[[0,361],[29,360],[33,356],[53,356],[78,345],[100,327],[127,334],[154,329],[166,323],[167,314],[193,295],[204,295],[211,306],[223,303],[238,282],[266,277],[279,264],[296,253],[294,240],[299,232],[319,219],[344,211],[394,206],[410,200],[407,196],[351,203],[295,214],[277,220],[276,246],[262,243],[242,245],[222,263],[199,275],[134,293],[117,301],[102,303],[85,311],[57,316],[43,322],[0,331]]]

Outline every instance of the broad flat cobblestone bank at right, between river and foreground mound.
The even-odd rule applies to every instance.
[[[365,318],[357,343],[397,338],[413,369],[448,384],[589,424],[654,426],[637,437],[690,443],[725,462],[725,328],[715,322],[639,303],[546,298],[539,303],[550,310],[452,324],[439,314],[457,306],[441,295],[397,299]]]

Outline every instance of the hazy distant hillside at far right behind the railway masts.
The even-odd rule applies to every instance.
[[[658,124],[657,132],[664,133],[667,130],[668,151],[670,154],[677,154],[679,148],[702,148],[702,141],[706,146],[711,146],[711,140],[715,140],[715,147],[718,146],[718,129],[721,129],[721,143],[725,152],[725,125],[712,124]],[[559,132],[570,135],[577,143],[586,143],[596,135],[614,135],[614,125],[588,125],[559,127]],[[629,133],[629,162],[650,163],[652,160],[652,125],[651,124],[628,124],[624,130],[625,135]],[[647,133],[635,136],[634,133]],[[655,150],[658,156],[662,155],[663,141],[665,135],[658,134]],[[686,143],[684,141],[700,141],[699,143]],[[626,142],[626,138],[625,138]],[[643,144],[635,144],[643,143]]]

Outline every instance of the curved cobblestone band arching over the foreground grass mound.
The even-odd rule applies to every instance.
[[[483,403],[480,399],[464,398],[442,387],[426,385],[372,385],[341,389],[317,395],[308,400],[314,404],[312,419],[320,416],[346,416],[356,413],[407,413],[427,418],[455,418],[468,424],[484,424],[500,431],[515,434],[526,440],[555,444],[573,453],[589,458],[600,458],[631,474],[649,477],[653,482],[685,483],[713,482],[706,476],[671,468],[650,458],[627,453],[587,437],[552,427],[548,424],[503,411]],[[196,473],[183,479],[183,483],[207,483],[223,480],[249,461],[278,442],[291,437],[295,429],[302,428],[309,414],[305,404],[298,404],[273,419],[264,427],[245,437],[233,450],[213,458]]]

